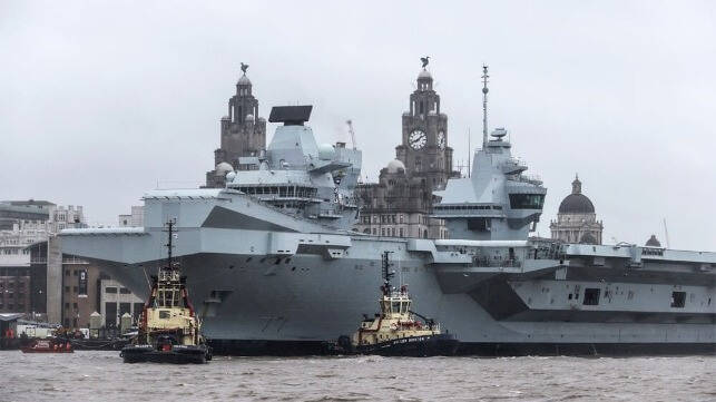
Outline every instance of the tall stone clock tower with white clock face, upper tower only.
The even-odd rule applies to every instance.
[[[448,116],[440,111],[440,95],[432,86],[432,76],[423,67],[410,95],[410,110],[403,114],[403,141],[395,147],[395,157],[411,176],[441,189],[451,176],[452,148],[448,147]]]

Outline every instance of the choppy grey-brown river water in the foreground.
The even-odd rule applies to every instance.
[[[0,352],[0,401],[716,401],[716,356],[216,357]]]

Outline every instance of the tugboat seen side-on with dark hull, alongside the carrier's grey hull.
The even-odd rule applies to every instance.
[[[440,331],[440,324],[410,310],[412,300],[408,285],[400,291],[391,286],[395,275],[390,271],[391,252],[383,253],[383,285],[379,300],[381,312],[374,317],[363,315],[363,322],[353,337],[342,335],[339,347],[344,353],[377,354],[383,356],[437,356],[451,355],[460,342],[455,334]],[[423,318],[424,322],[414,316]]]

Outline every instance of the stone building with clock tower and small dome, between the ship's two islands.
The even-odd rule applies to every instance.
[[[454,176],[452,148],[448,116],[440,110],[440,96],[424,68],[402,117],[402,143],[395,147],[395,157],[381,169],[377,183],[359,186],[361,214],[354,229],[379,236],[448,238],[444,222],[430,214],[432,192],[444,188]]]

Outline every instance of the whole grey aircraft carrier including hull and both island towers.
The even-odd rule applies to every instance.
[[[174,255],[219,354],[322,353],[374,310],[383,252],[463,354],[716,353],[716,253],[530,238],[547,190],[502,129],[437,193],[451,238],[353,232],[361,151],[316,144],[311,110],[274,108],[283,125],[225,188],[151,190],[144,227],[66,229],[63,253],[145,294],[176,219]]]

